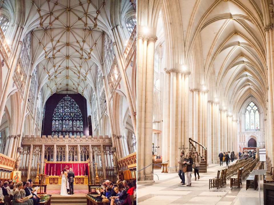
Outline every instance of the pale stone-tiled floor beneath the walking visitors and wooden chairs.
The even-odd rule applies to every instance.
[[[234,161],[235,162],[235,161]],[[233,162],[233,163],[234,163]],[[230,162],[231,163],[231,162]],[[192,186],[182,186],[177,173],[161,173],[161,170],[154,170],[153,183],[137,185],[138,205],[253,205],[259,204],[259,191],[252,188],[245,190],[245,180],[242,180],[241,188],[230,188],[230,181],[227,185],[217,190],[209,190],[209,179],[217,175],[217,170],[225,168],[225,164],[210,164],[207,173],[200,174],[200,180],[194,181],[192,173]],[[263,204],[263,181],[261,180],[261,204]]]

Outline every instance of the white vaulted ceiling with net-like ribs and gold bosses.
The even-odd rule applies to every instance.
[[[32,33],[32,69],[38,68],[39,90],[43,90],[44,99],[55,92],[76,91],[91,100],[91,91],[96,90],[96,74],[98,69],[103,69],[104,33],[114,39],[112,19],[118,16],[119,21],[134,11],[130,1],[111,3],[104,0],[4,2],[3,9],[14,13],[17,21],[21,19],[24,35]]]

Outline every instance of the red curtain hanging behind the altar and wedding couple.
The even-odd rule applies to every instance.
[[[59,176],[61,175],[61,171],[63,171],[63,168],[69,169],[72,168],[72,171],[74,172],[75,176],[85,175],[88,176],[88,163],[45,163],[45,174]],[[67,167],[68,168],[67,168]],[[82,171],[82,172],[81,172]]]

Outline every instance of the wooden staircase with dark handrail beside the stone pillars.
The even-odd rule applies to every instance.
[[[206,173],[207,172],[207,149],[205,146],[200,144],[199,142],[196,142],[192,140],[192,138],[189,138],[189,150],[193,152],[197,151],[199,155],[201,156],[201,163],[200,163],[200,169],[199,173]]]

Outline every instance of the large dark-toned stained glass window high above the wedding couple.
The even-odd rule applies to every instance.
[[[53,113],[52,133],[53,135],[72,136],[72,131],[80,131],[77,135],[83,136],[82,113],[78,104],[68,95],[65,96],[56,106]],[[76,136],[76,133],[74,132]]]

